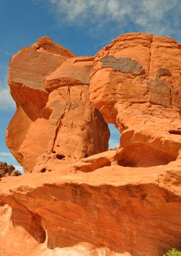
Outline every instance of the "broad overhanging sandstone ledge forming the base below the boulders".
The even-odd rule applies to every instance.
[[[8,177],[0,200],[13,209],[12,239],[26,232],[26,255],[161,256],[180,246],[180,166],[105,166],[69,174],[63,168]],[[18,249],[13,243],[5,255],[18,255]]]

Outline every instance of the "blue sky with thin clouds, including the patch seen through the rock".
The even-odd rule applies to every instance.
[[[95,55],[113,38],[144,32],[181,42],[180,0],[1,0],[0,1],[0,161],[21,169],[5,146],[5,130],[15,113],[7,86],[9,60],[19,49],[49,36],[78,56]],[[111,129],[110,146],[119,143]]]

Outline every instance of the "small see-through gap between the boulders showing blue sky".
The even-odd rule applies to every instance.
[[[110,131],[109,150],[114,150],[119,148],[120,132],[113,124],[109,124],[108,127]]]

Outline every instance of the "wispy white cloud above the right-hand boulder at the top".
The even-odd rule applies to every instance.
[[[180,33],[180,0],[48,1],[54,7],[57,17],[66,24],[89,24],[97,30],[113,22],[111,30],[125,28],[127,32],[132,30],[166,36]]]

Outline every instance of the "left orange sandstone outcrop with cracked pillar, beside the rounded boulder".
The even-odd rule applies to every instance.
[[[6,141],[25,171],[44,171],[52,158],[75,162],[107,150],[109,129],[89,100],[93,59],[75,57],[47,37],[11,59],[17,111]]]

